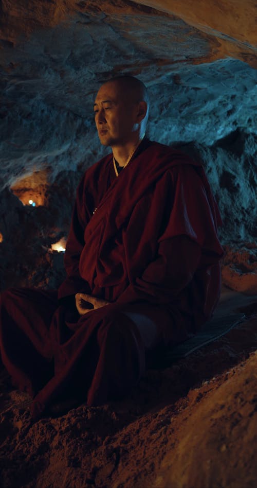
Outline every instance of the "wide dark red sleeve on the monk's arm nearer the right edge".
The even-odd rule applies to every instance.
[[[174,303],[200,267],[207,269],[218,263],[223,250],[217,238],[215,209],[205,185],[206,180],[201,179],[194,167],[185,165],[174,169],[169,187],[166,184],[164,188],[160,182],[159,188],[155,188],[146,220],[149,219],[152,229],[159,225],[156,252],[130,280],[119,302]],[[161,207],[160,202],[162,215],[156,212],[156,207]],[[164,214],[165,222],[160,226]],[[141,218],[141,228],[142,221]],[[147,231],[145,225],[143,233],[149,241],[150,231]],[[137,247],[140,246],[139,242]]]

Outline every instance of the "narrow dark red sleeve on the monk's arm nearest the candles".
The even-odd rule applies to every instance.
[[[78,292],[90,293],[88,283],[83,280],[79,272],[80,255],[84,248],[84,231],[90,219],[90,212],[85,204],[85,176],[81,180],[76,195],[76,202],[72,213],[69,235],[64,254],[64,266],[67,276],[58,290],[58,299],[74,301]]]

